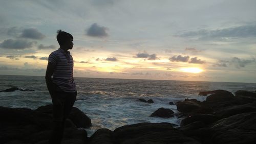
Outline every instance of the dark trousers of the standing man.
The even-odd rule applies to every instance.
[[[65,122],[75,103],[77,92],[55,91],[52,97],[53,130],[49,143],[61,143]]]

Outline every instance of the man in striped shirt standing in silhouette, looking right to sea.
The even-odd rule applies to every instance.
[[[59,49],[48,58],[46,84],[53,104],[53,122],[49,143],[61,143],[65,121],[76,100],[76,86],[73,79],[73,58],[68,50],[73,48],[73,36],[57,31]]]

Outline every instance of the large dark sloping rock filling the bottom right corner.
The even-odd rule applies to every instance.
[[[256,112],[241,113],[220,119],[212,124],[214,143],[255,143]]]

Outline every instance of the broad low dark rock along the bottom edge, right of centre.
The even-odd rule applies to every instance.
[[[113,132],[105,129],[100,129],[96,131],[90,138],[90,144],[96,143],[196,144],[199,142],[194,138],[187,137],[183,134],[181,130],[173,128],[172,124],[169,123],[139,123],[117,128]]]

